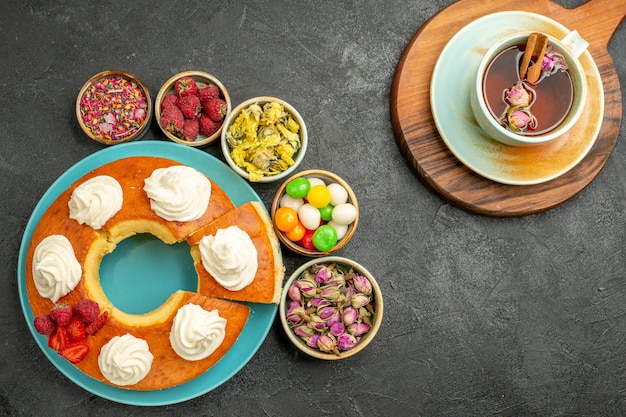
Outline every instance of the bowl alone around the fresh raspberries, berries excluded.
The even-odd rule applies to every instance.
[[[182,77],[192,77],[195,81],[196,84],[198,84],[198,87],[204,87],[206,85],[209,84],[215,84],[219,87],[220,89],[220,98],[222,98],[225,102],[226,102],[226,106],[227,106],[227,112],[226,115],[224,117],[224,120],[226,120],[226,117],[228,117],[228,114],[231,111],[231,101],[230,101],[230,95],[228,94],[228,90],[226,89],[226,87],[224,87],[224,85],[221,83],[220,80],[218,80],[215,76],[206,73],[206,72],[202,72],[202,71],[184,71],[181,73],[178,73],[174,76],[172,76],[169,80],[167,80],[162,86],[161,89],[159,90],[159,93],[156,96],[156,99],[154,100],[154,113],[155,113],[155,117],[157,120],[157,123],[159,124],[159,128],[161,129],[161,131],[163,132],[163,134],[165,134],[165,136],[167,136],[170,140],[183,144],[183,145],[188,145],[188,146],[193,146],[193,147],[200,147],[200,146],[207,146],[212,144],[213,142],[215,142],[221,135],[222,133],[222,129],[224,127],[224,120],[222,120],[222,124],[220,126],[220,128],[213,133],[210,136],[205,136],[202,134],[198,134],[198,137],[196,140],[186,140],[184,139],[182,136],[177,136],[172,132],[169,132],[165,129],[163,129],[163,127],[161,126],[161,103],[163,102],[163,99],[166,95],[168,94],[175,94],[174,91],[174,84],[176,83],[176,81]]]

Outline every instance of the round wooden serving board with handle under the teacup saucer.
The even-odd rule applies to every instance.
[[[469,23],[502,11],[533,12],[576,29],[589,42],[588,50],[602,78],[604,118],[595,144],[573,169],[541,184],[501,184],[468,169],[441,139],[430,108],[430,81],[441,50]],[[625,14],[623,0],[590,0],[574,9],[548,0],[460,0],[443,9],[415,33],[396,68],[391,121],[400,152],[428,187],[470,212],[523,216],[569,200],[598,175],[617,142],[622,93],[607,46]]]

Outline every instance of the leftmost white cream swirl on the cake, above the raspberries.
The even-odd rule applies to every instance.
[[[63,235],[51,235],[39,242],[32,267],[39,295],[53,303],[76,288],[83,273],[72,244]]]

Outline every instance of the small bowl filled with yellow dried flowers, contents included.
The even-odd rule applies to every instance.
[[[228,165],[250,182],[273,182],[302,162],[308,136],[300,113],[275,97],[254,97],[230,112],[222,128]]]

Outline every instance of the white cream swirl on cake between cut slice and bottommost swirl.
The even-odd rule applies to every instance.
[[[215,352],[226,335],[226,319],[217,310],[196,304],[178,309],[170,330],[170,344],[181,358],[198,361]]]

